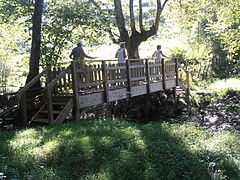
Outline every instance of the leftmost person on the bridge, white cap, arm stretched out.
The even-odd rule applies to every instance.
[[[73,61],[76,61],[79,63],[80,66],[84,66],[85,63],[82,61],[84,60],[84,57],[86,58],[90,58],[90,59],[95,59],[96,57],[91,57],[91,56],[88,56],[83,48],[82,48],[82,44],[83,44],[83,41],[82,40],[78,40],[77,41],[77,47],[73,48],[71,54],[70,54],[70,58],[73,59]]]

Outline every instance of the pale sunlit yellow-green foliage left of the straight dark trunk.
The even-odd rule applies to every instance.
[[[22,24],[0,24],[0,92],[15,89],[9,86],[23,85],[27,63],[23,61],[29,44],[28,34]]]

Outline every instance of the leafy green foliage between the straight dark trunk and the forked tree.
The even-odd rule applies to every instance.
[[[43,23],[43,63],[56,63],[68,57],[64,50],[72,41],[84,39],[87,44],[103,40],[109,29],[108,12],[88,1],[49,1]],[[71,47],[72,48],[72,47]]]

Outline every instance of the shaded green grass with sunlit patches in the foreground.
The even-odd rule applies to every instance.
[[[0,179],[240,179],[239,135],[96,119],[0,132]]]

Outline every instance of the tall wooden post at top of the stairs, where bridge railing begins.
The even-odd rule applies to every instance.
[[[72,88],[74,94],[73,117],[80,120],[80,104],[78,94],[78,79],[77,79],[77,62],[72,62]]]

